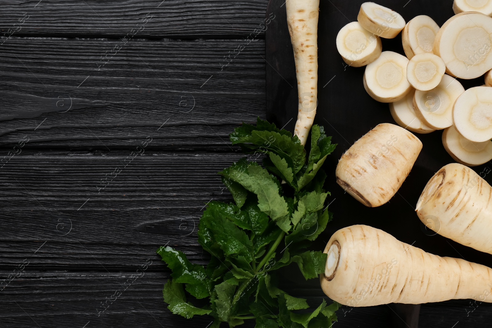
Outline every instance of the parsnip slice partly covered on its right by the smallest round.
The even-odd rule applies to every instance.
[[[402,99],[412,87],[406,78],[408,59],[393,51],[383,51],[381,56],[366,66],[364,88],[380,102]]]

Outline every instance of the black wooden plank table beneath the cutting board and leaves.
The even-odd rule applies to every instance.
[[[1,328],[210,324],[167,310],[155,250],[207,261],[198,219],[230,199],[216,172],[240,157],[227,134],[265,118],[264,33],[228,56],[267,4],[0,2]],[[281,283],[319,303],[319,282],[303,280]],[[343,307],[336,327],[391,327],[392,311]],[[423,305],[420,327],[491,319],[449,301]]]

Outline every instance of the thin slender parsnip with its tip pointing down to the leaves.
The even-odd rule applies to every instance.
[[[305,145],[317,106],[319,0],[288,0],[285,7],[299,96],[295,134]]]

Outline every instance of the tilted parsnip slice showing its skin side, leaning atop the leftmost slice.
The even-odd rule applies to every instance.
[[[369,32],[392,39],[405,27],[405,20],[399,13],[374,2],[364,2],[357,21]]]

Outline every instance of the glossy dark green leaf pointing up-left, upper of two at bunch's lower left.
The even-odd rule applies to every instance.
[[[157,253],[172,270],[171,277],[175,283],[184,283],[186,290],[196,298],[210,296],[210,279],[205,274],[205,268],[198,264],[191,264],[183,252],[167,246],[161,247]]]

